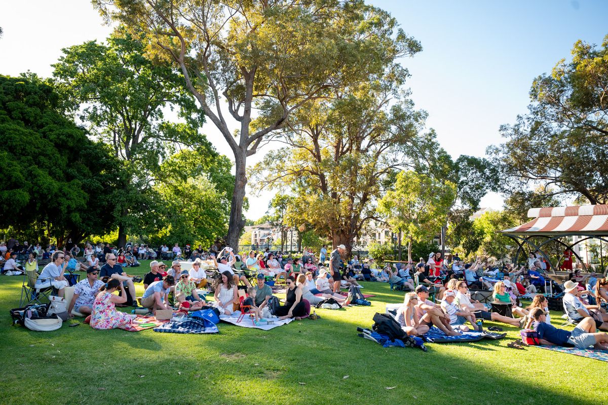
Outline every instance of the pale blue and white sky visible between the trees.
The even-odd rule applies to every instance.
[[[525,114],[535,77],[570,57],[577,40],[601,44],[608,34],[608,1],[370,1],[389,11],[423,51],[401,60],[412,77],[416,107],[428,112],[427,126],[456,159],[485,156],[500,144],[499,127]],[[0,74],[52,74],[64,47],[103,41],[111,28],[86,0],[0,0]],[[211,123],[202,131],[220,153],[229,147]],[[255,164],[264,150],[248,159]],[[264,215],[274,193],[247,193],[247,218]],[[482,207],[500,209],[491,193]]]

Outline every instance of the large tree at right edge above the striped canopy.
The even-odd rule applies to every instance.
[[[503,125],[506,142],[488,150],[502,170],[506,195],[525,198],[521,190],[541,185],[545,199],[608,202],[606,83],[608,36],[599,48],[577,41],[571,61],[534,80],[528,114]]]

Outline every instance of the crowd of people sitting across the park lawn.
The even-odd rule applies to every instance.
[[[75,285],[69,312],[91,314],[94,328],[114,328],[133,322],[134,316],[115,309],[127,304],[139,308],[134,276],[127,274],[125,267],[158,257],[160,260],[151,261],[150,271],[143,277],[145,291],[140,298],[142,307],[152,313],[215,308],[218,314],[230,316],[238,308],[241,285],[246,291],[243,308],[258,323],[268,316],[268,308],[266,312],[264,308],[273,295],[269,281],[274,281],[286,285],[285,303],[275,316],[301,317],[305,315],[303,300],[316,305],[333,299],[348,305],[350,297],[340,294],[340,288],[351,285],[364,288],[360,282],[371,281],[409,291],[396,320],[412,336],[426,333],[431,326],[458,336],[469,330],[481,331],[483,321],[492,320],[533,328],[544,342],[551,344],[605,348],[608,342],[608,335],[596,331],[608,330],[608,314],[602,305],[608,302],[608,280],[598,279],[593,272],[586,277],[576,269],[564,283],[556,283],[548,277],[547,263],[540,252],[531,252],[526,263],[515,266],[502,265],[491,258],[465,262],[458,255],[447,261],[440,252],[434,252],[417,263],[387,263],[381,267],[371,257],[360,260],[353,255],[345,260],[344,245],[331,252],[323,246],[319,255],[312,249],[295,256],[265,249],[249,251],[243,257],[229,247],[218,252],[215,246],[202,249],[199,245],[191,249],[186,245],[182,250],[178,244],[171,249],[162,245],[157,251],[137,244],[117,249],[109,244],[87,243],[82,252],[76,244],[66,244],[63,249],[55,246],[43,249],[40,244],[20,245],[14,241],[10,245],[1,243],[0,247],[4,247],[4,271],[38,271],[38,260],[50,253],[49,263],[40,272],[35,286],[52,287],[58,296],[63,296],[69,286],[66,271],[86,271],[86,279]],[[80,253],[84,260],[76,260]],[[162,261],[167,259],[173,259],[169,268]],[[182,270],[182,261],[191,261],[192,268]],[[547,298],[539,294],[547,289],[562,295],[564,311],[570,322],[577,325],[572,333],[550,325]],[[209,302],[207,290],[213,291],[213,300]],[[491,291],[491,306],[472,299],[470,290]],[[120,294],[114,294],[116,291]],[[532,297],[531,305],[524,308],[520,300]]]

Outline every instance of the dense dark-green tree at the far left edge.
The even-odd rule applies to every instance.
[[[126,179],[109,148],[89,140],[59,102],[35,75],[0,76],[0,227],[35,229],[61,246],[116,224]]]

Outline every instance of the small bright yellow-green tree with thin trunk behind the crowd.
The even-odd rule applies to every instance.
[[[432,239],[446,223],[455,199],[456,185],[438,181],[424,173],[401,171],[394,190],[378,201],[378,212],[393,232],[402,232],[408,242],[407,258],[412,260],[412,243]]]

